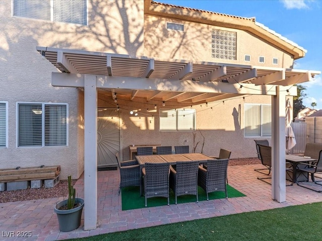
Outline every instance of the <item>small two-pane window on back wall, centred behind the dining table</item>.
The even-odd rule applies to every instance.
[[[160,131],[180,132],[195,130],[195,109],[160,109]]]

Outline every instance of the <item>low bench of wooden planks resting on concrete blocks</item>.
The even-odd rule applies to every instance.
[[[0,169],[0,191],[54,187],[59,182],[60,166]]]

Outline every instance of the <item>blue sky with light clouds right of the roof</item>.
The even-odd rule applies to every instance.
[[[269,29],[291,40],[307,52],[305,57],[296,60],[294,69],[317,70],[322,72],[322,1],[320,0],[155,0],[215,13],[256,18]],[[322,109],[322,74],[306,87],[303,104]]]

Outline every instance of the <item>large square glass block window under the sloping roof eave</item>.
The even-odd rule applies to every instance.
[[[211,32],[211,57],[236,60],[237,33],[213,29]]]

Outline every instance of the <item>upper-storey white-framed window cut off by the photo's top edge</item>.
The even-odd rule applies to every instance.
[[[87,25],[87,0],[13,0],[13,16]]]

